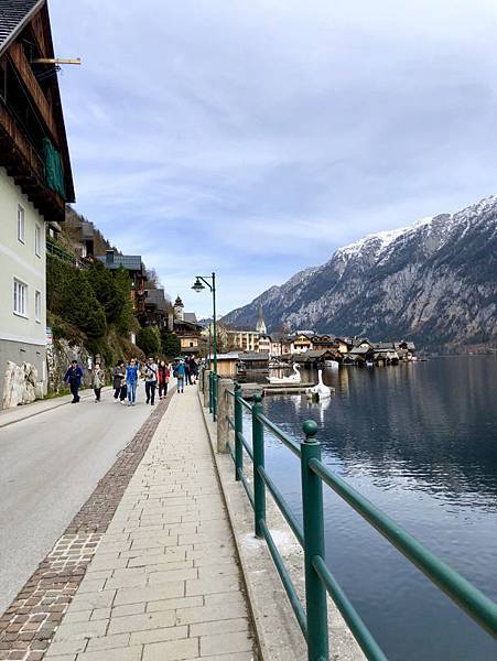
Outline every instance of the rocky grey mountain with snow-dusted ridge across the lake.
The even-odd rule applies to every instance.
[[[224,321],[269,332],[413,339],[456,350],[497,344],[497,195],[339,248]]]

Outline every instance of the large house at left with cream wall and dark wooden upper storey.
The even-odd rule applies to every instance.
[[[53,59],[46,1],[0,0],[0,408],[19,370],[28,401],[46,391],[45,237],[74,202]]]

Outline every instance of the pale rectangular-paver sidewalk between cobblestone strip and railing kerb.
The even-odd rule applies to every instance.
[[[250,661],[253,648],[196,387],[188,387],[173,397],[46,658]]]

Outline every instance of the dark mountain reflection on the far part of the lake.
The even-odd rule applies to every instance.
[[[495,359],[475,357],[326,370],[324,381],[336,388],[328,402],[271,395],[266,407],[291,432],[300,432],[296,420],[314,419],[325,454],[339,459],[345,475],[371,475],[383,485],[402,476],[404,488],[453,501],[454,494],[477,491],[485,498],[476,505],[487,507],[497,495],[493,369]]]

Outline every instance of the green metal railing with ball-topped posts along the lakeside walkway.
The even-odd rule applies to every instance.
[[[209,380],[209,409],[217,410],[217,380]],[[263,413],[262,395],[253,395],[253,404],[241,397],[241,387],[227,390],[234,399],[235,419],[227,416],[235,432],[235,447],[227,440],[227,448],[235,463],[235,478],[241,483],[255,514],[255,532],[266,540],[268,550],[284,586],[307,644],[309,661],[328,661],[328,626],[326,594],[331,596],[348,625],[367,659],[386,661],[386,655],[371,632],[354,608],[325,562],[323,484],[335,491],[345,502],[376,528],[396,549],[443,590],[460,608],[483,629],[497,638],[497,604],[461,574],[436,557],[407,530],[380,511],[369,500],[332,473],[321,460],[321,443],[316,441],[317,424],[303,423],[305,438],[298,443],[274,425]],[[244,408],[251,414],[252,444],[244,435]],[[264,430],[275,436],[301,462],[303,528],[296,520],[283,496],[264,467]],[[244,453],[252,464],[252,487],[244,472]],[[268,490],[304,551],[305,609],[287,571],[278,546],[266,522],[266,490]],[[333,642],[333,641],[332,641]]]

